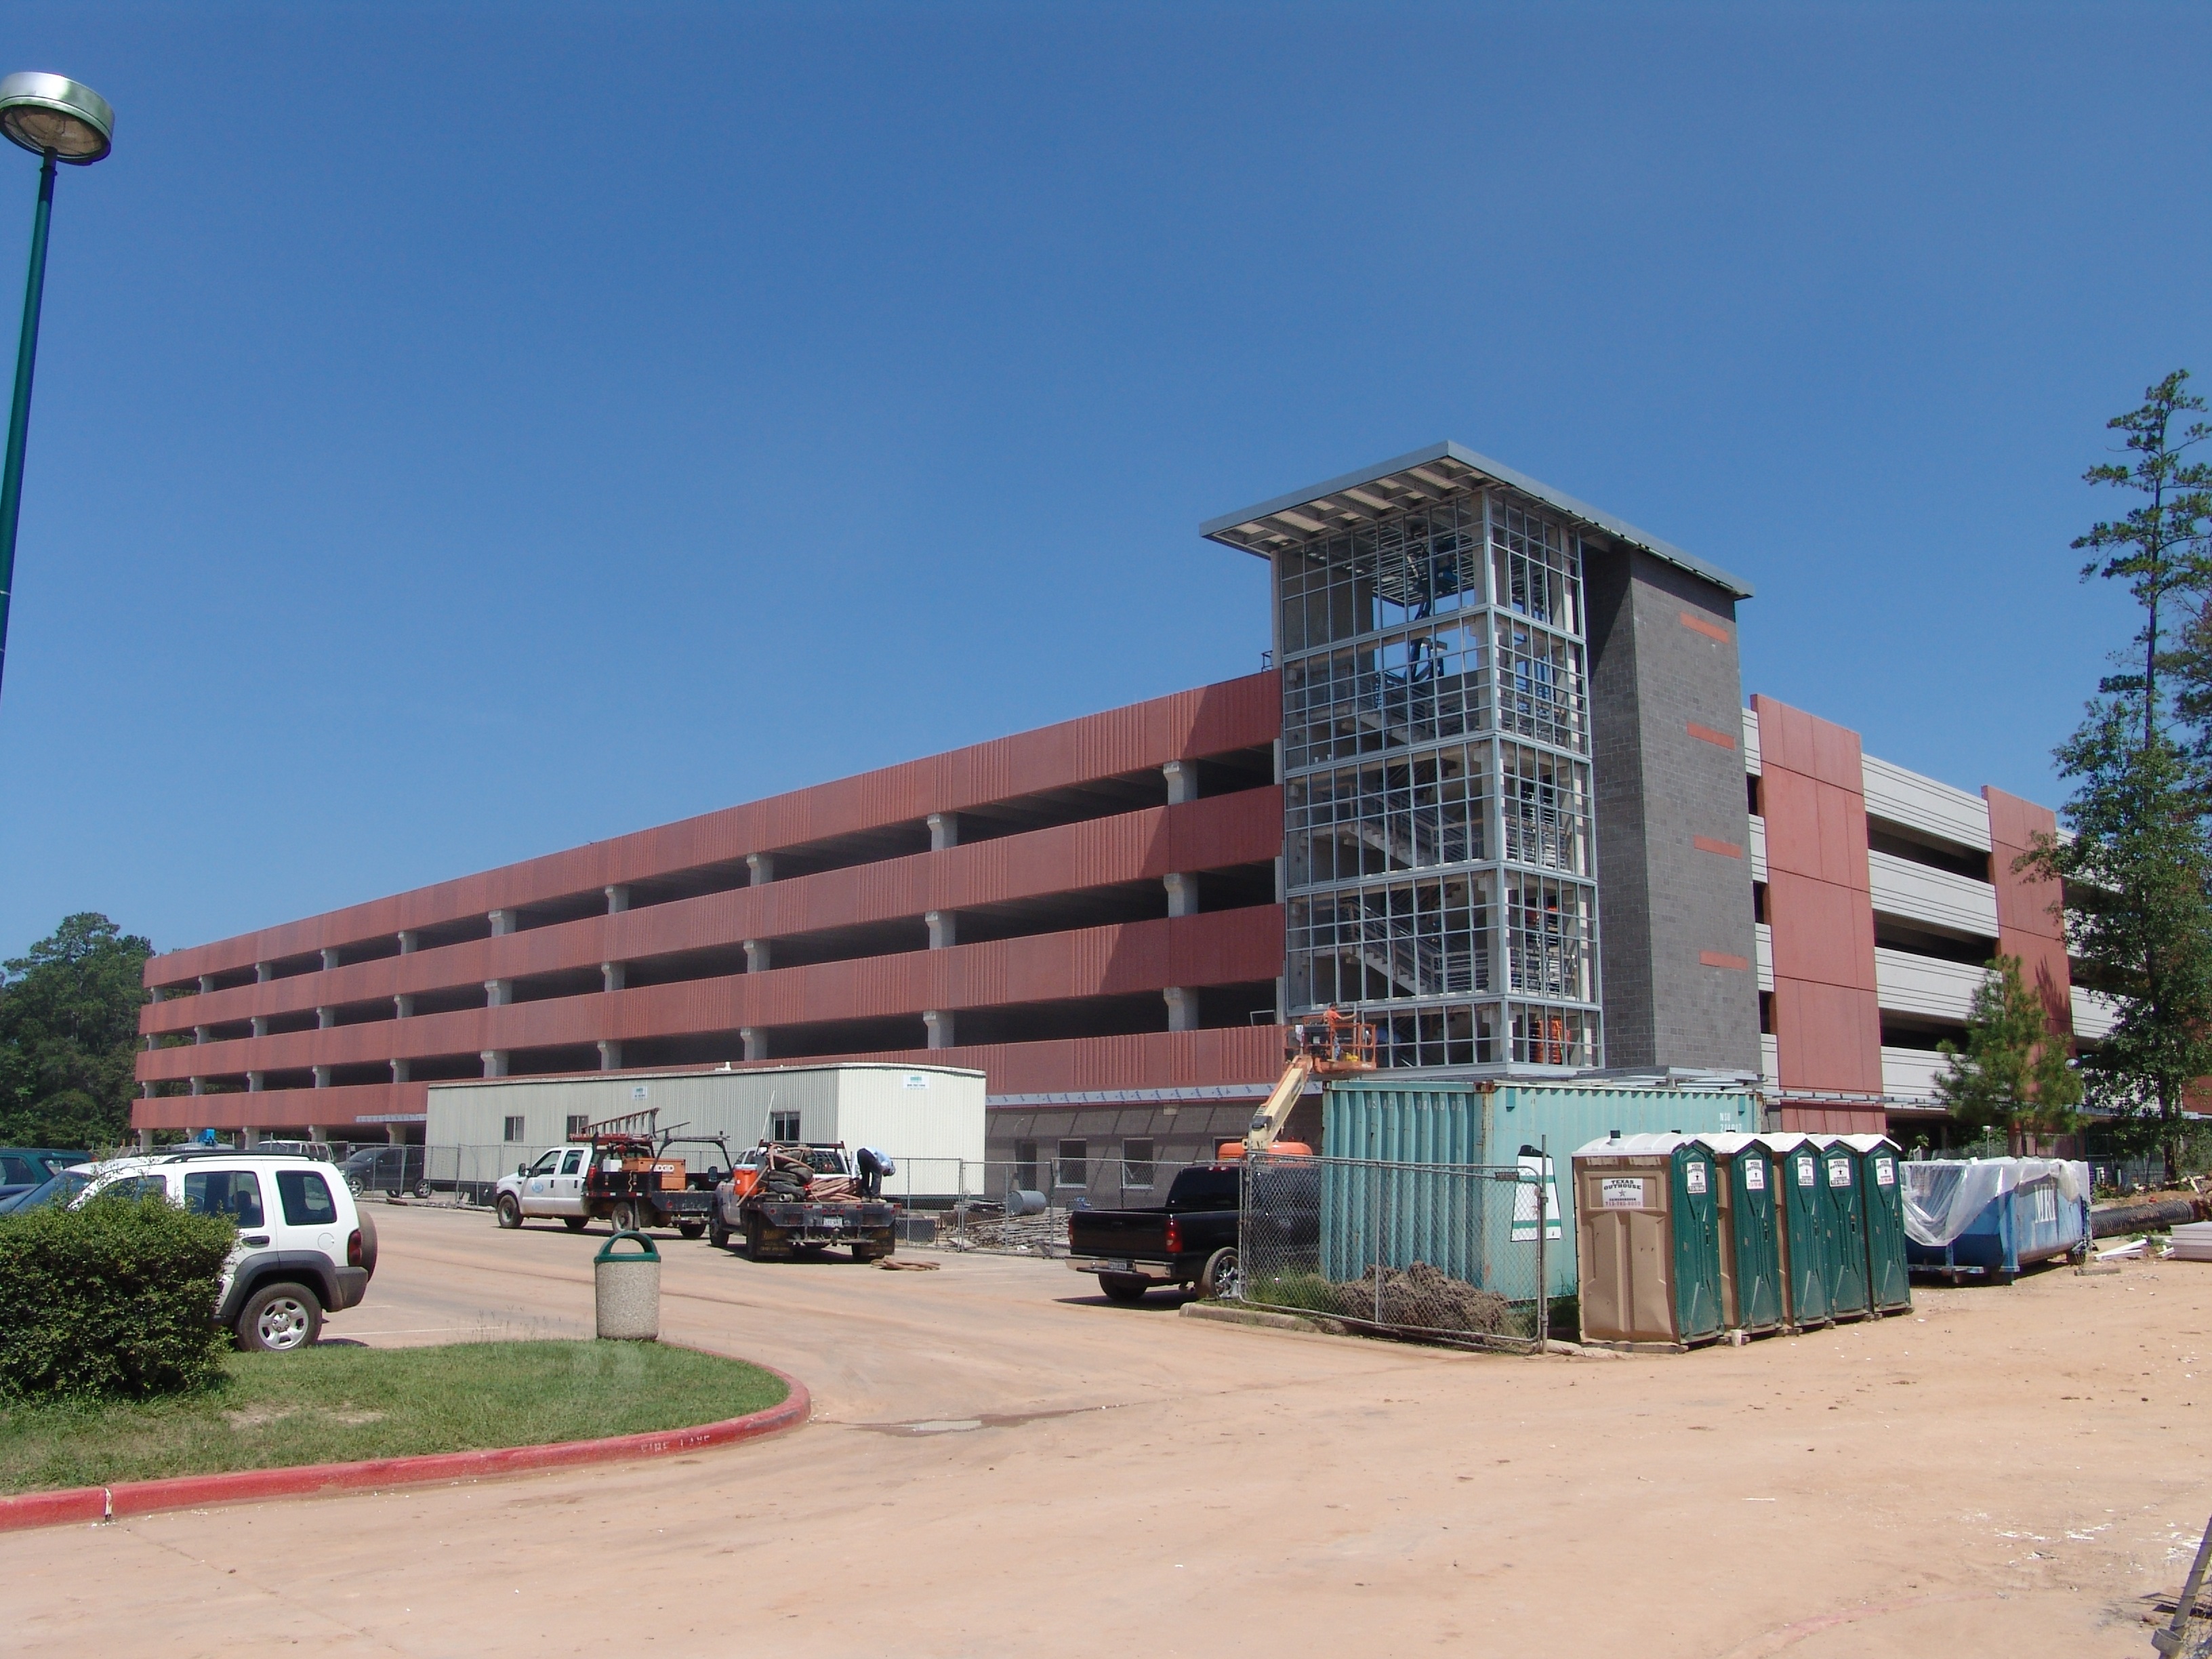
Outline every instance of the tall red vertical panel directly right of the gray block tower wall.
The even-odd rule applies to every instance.
[[[1880,1095],[1882,1011],[1858,732],[1772,697],[1754,697],[1752,708],[1767,821],[1781,1084]]]

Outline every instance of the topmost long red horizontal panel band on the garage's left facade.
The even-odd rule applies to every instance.
[[[1274,743],[1283,732],[1281,677],[1270,670],[1148,703],[1044,726],[880,772],[821,783],[699,818],[531,858],[504,869],[157,956],[146,984],[250,969],[254,962],[387,938],[493,909],[650,880],[830,836],[914,823],[1044,790],[1141,772],[1179,759]]]

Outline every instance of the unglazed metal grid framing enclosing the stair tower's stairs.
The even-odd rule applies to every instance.
[[[1287,1013],[1387,1066],[1604,1064],[1582,542],[1467,493],[1279,553]]]

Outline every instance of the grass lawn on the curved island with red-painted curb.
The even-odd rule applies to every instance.
[[[688,1429],[783,1394],[757,1365],[661,1343],[232,1354],[204,1394],[0,1409],[0,1491]]]

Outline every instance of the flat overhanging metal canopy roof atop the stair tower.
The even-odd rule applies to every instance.
[[[1316,535],[1349,531],[1385,513],[1436,502],[1462,489],[1480,489],[1482,484],[1504,484],[1522,495],[1533,495],[1568,518],[1601,529],[1606,535],[1630,546],[1641,546],[1652,557],[1725,588],[1736,599],[1752,597],[1752,588],[1721,566],[1705,564],[1705,560],[1683,553],[1672,542],[1661,542],[1657,535],[1613,518],[1613,513],[1601,513],[1551,484],[1540,484],[1526,473],[1517,473],[1489,456],[1478,456],[1473,449],[1462,449],[1449,440],[1376,467],[1363,467],[1343,478],[1329,478],[1310,489],[1296,489],[1290,495],[1276,495],[1272,502],[1248,507],[1241,513],[1210,518],[1199,524],[1199,535],[1223,546],[1239,546],[1245,553],[1270,557],[1283,549],[1312,542]]]

